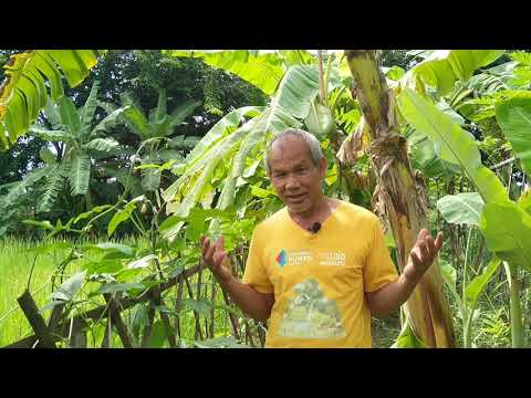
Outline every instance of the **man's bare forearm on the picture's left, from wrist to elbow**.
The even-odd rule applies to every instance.
[[[247,315],[258,321],[269,318],[274,303],[273,294],[259,293],[248,284],[238,281],[235,276],[230,276],[227,280],[218,279],[218,281],[235,304]]]

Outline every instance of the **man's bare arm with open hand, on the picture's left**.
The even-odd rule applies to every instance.
[[[274,294],[257,292],[230,273],[229,259],[223,248],[223,237],[218,238],[214,244],[208,238],[202,237],[200,244],[202,260],[235,304],[254,320],[268,320],[274,304]]]

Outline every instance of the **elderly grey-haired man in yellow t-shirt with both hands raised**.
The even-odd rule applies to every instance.
[[[229,271],[223,238],[201,253],[249,316],[270,318],[266,347],[371,347],[371,315],[398,308],[437,255],[421,230],[398,276],[371,211],[323,195],[326,159],[301,129],[274,137],[266,166],[283,209],[254,229],[242,281]]]

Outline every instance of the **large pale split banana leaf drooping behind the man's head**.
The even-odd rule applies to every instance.
[[[331,90],[339,84],[332,81]],[[246,159],[251,150],[257,148],[259,143],[263,143],[267,134],[277,134],[288,127],[295,127],[302,124],[310,113],[311,103],[319,92],[319,72],[315,66],[295,65],[288,70],[279,88],[273,96],[270,106],[268,106],[259,116],[243,124],[243,126],[233,130],[235,124],[239,122],[238,115],[229,114],[230,123],[227,118],[215,126],[195,150],[186,159],[186,170],[181,177],[174,182],[164,193],[166,201],[176,199],[177,193],[185,184],[188,184],[192,176],[197,176],[194,186],[189,190],[183,202],[173,211],[178,217],[186,217],[189,210],[196,205],[205,185],[209,181],[208,174],[212,174],[216,165],[223,160],[230,165],[228,177],[225,180],[221,190],[221,197],[218,208],[227,208],[235,198],[236,180],[241,176]],[[232,126],[225,128],[223,126]],[[167,235],[175,234],[181,227],[178,223]]]

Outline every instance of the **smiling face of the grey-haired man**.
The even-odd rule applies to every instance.
[[[322,197],[326,160],[321,159],[315,167],[310,148],[301,138],[285,136],[274,142],[269,165],[273,188],[291,212],[305,212]]]

